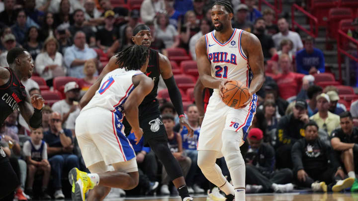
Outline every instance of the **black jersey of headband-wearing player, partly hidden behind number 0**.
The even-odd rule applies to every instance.
[[[154,87],[153,90],[144,98],[141,105],[145,105],[157,97],[159,76],[161,73],[159,70],[159,53],[153,49],[150,49],[149,63],[145,74],[153,79]]]

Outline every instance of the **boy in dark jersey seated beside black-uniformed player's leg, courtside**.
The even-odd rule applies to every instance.
[[[173,128],[175,126],[174,116],[172,115],[163,115],[162,116],[163,124],[166,128],[166,132],[168,135],[168,146],[173,153],[173,156],[178,160],[181,170],[183,172],[183,176],[186,177],[190,165],[191,159],[187,157],[182,150],[182,140],[180,134],[174,132]],[[165,170],[164,166],[162,169],[162,187],[161,187],[161,194],[168,195],[170,194],[168,185],[170,182],[169,175]]]

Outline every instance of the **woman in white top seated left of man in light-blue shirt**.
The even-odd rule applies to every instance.
[[[52,86],[55,76],[64,75],[63,57],[58,52],[59,44],[54,37],[49,37],[43,45],[43,52],[35,60],[36,71],[46,80],[47,86]]]

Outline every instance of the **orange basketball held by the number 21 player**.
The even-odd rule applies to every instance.
[[[225,86],[227,89],[223,89],[223,101],[229,107],[238,109],[250,98],[249,89],[240,81],[229,81]]]

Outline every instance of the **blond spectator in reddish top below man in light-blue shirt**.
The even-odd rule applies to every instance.
[[[87,61],[84,67],[85,77],[79,80],[79,86],[82,91],[86,92],[92,84],[97,80],[96,76],[93,76],[97,71],[96,64],[93,61]]]

